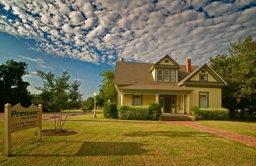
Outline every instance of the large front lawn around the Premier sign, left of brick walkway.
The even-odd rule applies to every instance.
[[[43,122],[43,130],[53,128]],[[76,135],[43,137],[36,128],[12,133],[12,157],[3,157],[0,122],[0,165],[255,165],[256,147],[163,123],[67,121]]]

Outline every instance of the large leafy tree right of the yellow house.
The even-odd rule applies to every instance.
[[[228,55],[210,58],[212,68],[227,82],[223,88],[223,105],[241,109],[241,117],[248,105],[256,105],[256,41],[248,36],[230,43]],[[233,107],[232,107],[233,105]]]

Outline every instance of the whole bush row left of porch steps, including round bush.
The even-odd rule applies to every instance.
[[[148,106],[122,105],[117,109],[115,103],[105,103],[103,114],[113,119],[158,120],[161,116],[161,106],[157,103],[149,103]]]

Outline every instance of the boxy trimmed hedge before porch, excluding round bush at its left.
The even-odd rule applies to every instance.
[[[149,106],[122,105],[118,108],[118,118],[126,120],[158,120],[161,116],[161,106],[150,103]]]

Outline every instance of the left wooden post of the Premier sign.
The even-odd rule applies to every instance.
[[[4,156],[8,157],[11,155],[11,128],[10,126],[10,116],[11,112],[9,111],[12,105],[6,103],[4,105]]]

